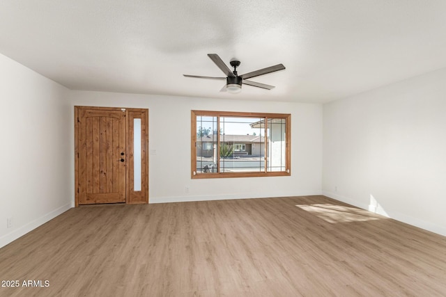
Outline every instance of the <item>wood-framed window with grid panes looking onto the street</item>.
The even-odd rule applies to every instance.
[[[192,178],[291,175],[291,115],[192,111]]]

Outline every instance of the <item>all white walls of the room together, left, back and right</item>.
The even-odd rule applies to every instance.
[[[323,192],[446,235],[446,70],[323,107],[71,91],[1,54],[0,81],[0,247],[74,205],[75,105],[150,110],[151,203]],[[192,180],[191,109],[291,113],[291,177]]]

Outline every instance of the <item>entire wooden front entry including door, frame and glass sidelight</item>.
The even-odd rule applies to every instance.
[[[148,203],[148,109],[75,106],[75,206]]]

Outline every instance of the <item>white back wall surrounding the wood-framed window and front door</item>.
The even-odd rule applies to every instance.
[[[70,97],[72,106],[149,109],[149,150],[151,152],[149,155],[149,200],[151,203],[321,194],[321,104],[87,91],[72,91]],[[190,111],[192,109],[291,113],[291,177],[191,179]],[[72,135],[70,137],[74,138]],[[156,154],[153,154],[154,151]],[[72,167],[73,163],[74,161],[72,161]],[[74,177],[71,180],[74,181]],[[74,188],[73,184],[72,187]],[[189,188],[189,193],[185,192],[186,187]]]

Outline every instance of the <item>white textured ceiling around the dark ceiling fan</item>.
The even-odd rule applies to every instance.
[[[444,0],[3,0],[0,53],[75,90],[328,102],[446,67]],[[239,74],[222,93],[206,54]]]

